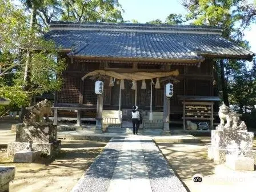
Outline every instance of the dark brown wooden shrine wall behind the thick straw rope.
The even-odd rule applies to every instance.
[[[61,91],[58,92],[58,104],[66,105],[85,105],[95,106],[97,96],[94,93],[94,82],[87,78],[83,82],[81,78],[90,71],[103,68],[104,62],[89,62],[83,60],[67,58],[67,70],[63,73],[64,84]],[[132,69],[132,63],[110,63],[107,67],[118,69],[122,66],[126,69]],[[163,65],[138,64],[138,69],[161,70]],[[171,113],[182,113],[182,101],[179,101],[177,95],[201,95],[213,96],[213,62],[205,60],[201,66],[171,65],[170,70],[179,70],[179,76],[175,77],[180,82],[174,84],[174,95],[170,99]],[[120,69],[122,70],[122,69]],[[125,70],[125,69],[123,69]],[[153,79],[154,82],[156,79]],[[146,90],[141,90],[142,81],[137,82],[137,105],[140,109],[150,109],[150,80],[146,80]],[[163,110],[163,86],[161,89],[153,87],[153,110]],[[109,87],[109,79],[105,81],[104,92],[105,109],[118,109],[119,104],[119,85],[115,82],[114,87]],[[125,90],[121,94],[121,106],[130,108],[134,105],[135,90],[131,90],[131,81],[125,80]]]

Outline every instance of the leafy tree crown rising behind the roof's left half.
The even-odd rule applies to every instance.
[[[123,22],[118,0],[63,0],[62,20],[75,22]]]

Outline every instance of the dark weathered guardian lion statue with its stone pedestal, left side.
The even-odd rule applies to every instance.
[[[61,141],[57,140],[57,125],[50,121],[50,113],[51,103],[47,99],[33,106],[25,116],[23,125],[17,126],[15,142],[8,144],[7,155],[13,156],[18,152],[15,157],[34,159],[37,155],[31,151],[40,151],[40,154],[50,158],[59,153]]]

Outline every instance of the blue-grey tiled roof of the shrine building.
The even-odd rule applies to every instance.
[[[254,56],[206,26],[55,22],[46,39],[82,57],[198,60]]]

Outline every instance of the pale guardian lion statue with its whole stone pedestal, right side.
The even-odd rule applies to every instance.
[[[251,170],[251,167],[256,165],[256,150],[253,150],[254,133],[247,132],[245,122],[240,121],[239,115],[225,105],[219,107],[219,118],[221,123],[216,130],[211,130],[208,158],[217,164],[226,163],[231,169]],[[246,166],[239,166],[241,159],[245,161]],[[251,163],[254,165],[250,165]]]

